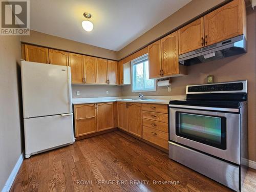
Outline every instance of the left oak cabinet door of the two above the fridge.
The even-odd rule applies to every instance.
[[[26,61],[49,63],[48,48],[25,45]]]

